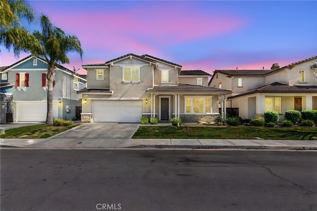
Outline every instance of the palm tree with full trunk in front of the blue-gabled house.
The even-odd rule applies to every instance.
[[[76,52],[82,58],[83,50],[76,36],[66,35],[65,32],[52,25],[46,15],[41,15],[42,33],[35,31],[34,37],[41,44],[41,48],[31,51],[33,55],[40,56],[48,63],[48,113],[47,124],[53,123],[53,81],[55,80],[54,66],[56,63],[69,63],[66,53]],[[35,50],[35,49],[33,49]]]

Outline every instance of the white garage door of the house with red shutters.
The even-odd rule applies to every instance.
[[[19,122],[45,122],[47,103],[45,102],[19,102],[16,104]]]

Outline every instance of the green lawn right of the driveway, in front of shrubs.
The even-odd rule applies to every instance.
[[[199,126],[146,126],[139,127],[132,138],[160,138],[160,139],[298,139],[317,140],[316,127],[199,127]],[[315,137],[315,138],[314,138]]]

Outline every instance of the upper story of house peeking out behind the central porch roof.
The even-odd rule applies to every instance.
[[[203,70],[182,70],[178,75],[178,83],[208,87],[209,77],[211,74]]]

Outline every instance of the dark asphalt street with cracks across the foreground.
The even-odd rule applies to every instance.
[[[0,210],[317,210],[317,153],[1,149]]]

